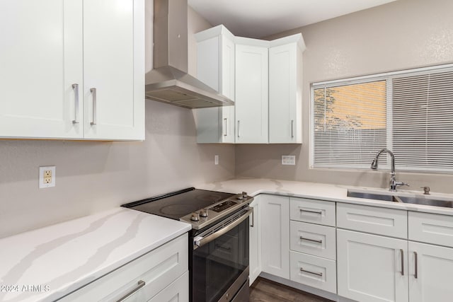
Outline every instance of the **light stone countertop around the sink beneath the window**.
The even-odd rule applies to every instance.
[[[386,202],[373,199],[348,197],[348,189],[389,193],[386,189],[370,187],[353,187],[345,185],[330,185],[319,182],[297,182],[291,180],[272,180],[265,178],[244,178],[212,182],[198,185],[197,189],[213,190],[220,192],[239,193],[247,192],[251,196],[258,194],[277,194],[289,197],[305,197],[310,199],[323,199],[333,202],[345,202],[349,204],[363,204],[374,207],[386,207],[391,209],[403,209],[408,211],[423,211],[432,214],[444,214],[453,216],[453,209],[446,207],[433,207],[420,204],[404,204],[398,202]],[[421,189],[420,189],[421,190]],[[424,198],[423,192],[398,190],[398,194]],[[453,194],[431,193],[429,197],[453,200]]]

